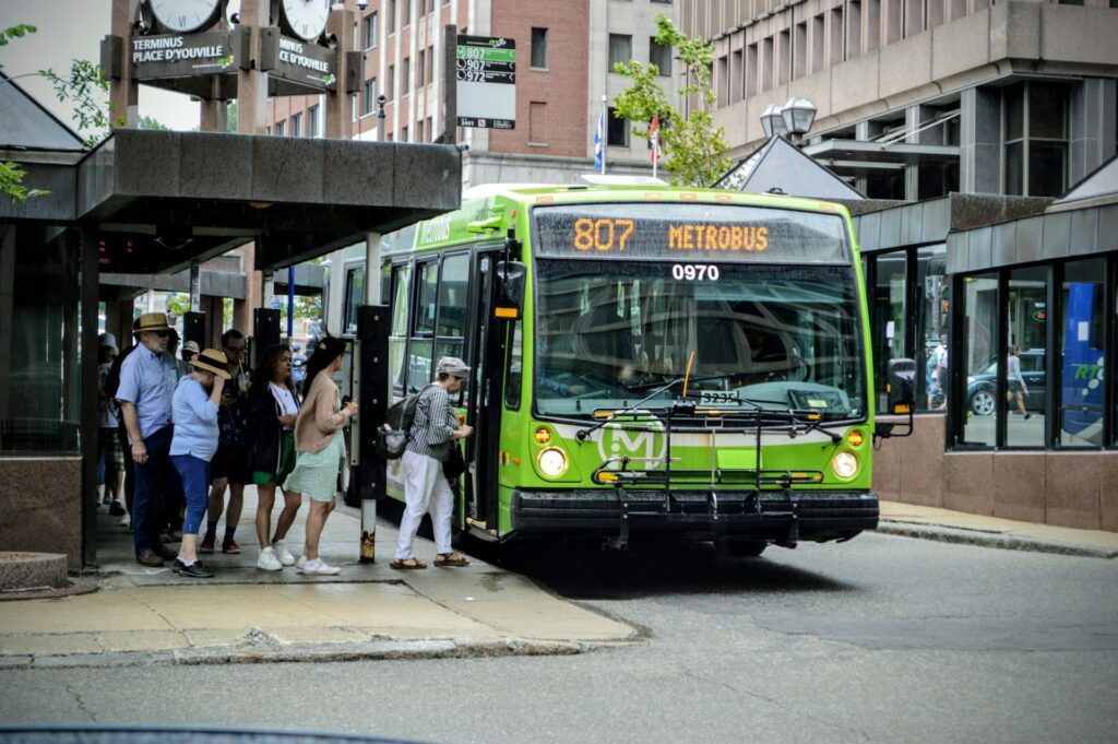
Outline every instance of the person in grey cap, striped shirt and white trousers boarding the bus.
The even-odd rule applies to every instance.
[[[451,396],[458,393],[470,378],[470,367],[462,359],[443,357],[436,368],[438,379],[423,389],[416,401],[415,421],[408,445],[400,458],[404,468],[404,516],[400,518],[392,568],[426,568],[415,557],[411,544],[423,516],[430,511],[435,533],[435,565],[439,568],[468,566],[470,561],[451,549],[451,517],[454,492],[443,472],[451,458],[451,448],[474,433],[473,426],[459,425]]]

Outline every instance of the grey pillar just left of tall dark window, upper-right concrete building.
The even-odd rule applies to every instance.
[[[996,90],[963,92],[959,124],[959,190],[1002,191],[1002,96]]]

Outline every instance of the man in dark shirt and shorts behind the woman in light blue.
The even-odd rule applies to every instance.
[[[202,538],[199,550],[212,553],[217,544],[217,525],[225,511],[225,537],[221,539],[221,552],[237,554],[237,525],[240,512],[245,508],[245,486],[253,482],[253,473],[248,469],[248,446],[246,442],[248,430],[248,370],[243,362],[245,356],[245,335],[236,328],[230,328],[221,335],[221,350],[229,360],[226,370],[230,375],[229,384],[221,389],[221,409],[218,413],[218,426],[221,436],[217,453],[210,463],[210,477],[214,479],[210,489],[209,508],[206,515],[206,537]],[[225,492],[229,491],[229,509],[225,510]]]

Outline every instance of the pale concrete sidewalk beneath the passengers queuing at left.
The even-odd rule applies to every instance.
[[[427,569],[394,571],[397,533],[385,520],[377,526],[377,562],[357,563],[360,521],[341,508],[320,546],[341,574],[258,571],[255,489],[246,489],[245,501],[236,536],[244,552],[203,556],[217,574],[211,580],[177,576],[170,562],[140,566],[119,519],[98,515],[101,574],[83,581],[101,590],[0,602],[0,667],[577,653],[639,640],[632,625],[477,559],[435,568],[427,540],[416,545]],[[305,516],[304,505],[287,538],[296,555]]]

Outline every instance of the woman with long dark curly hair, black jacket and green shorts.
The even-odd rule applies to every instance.
[[[265,351],[253,373],[248,390],[248,421],[252,440],[248,445],[248,467],[256,484],[256,537],[260,540],[260,555],[256,567],[280,571],[295,565],[295,557],[284,546],[283,539],[295,521],[303,495],[283,490],[283,511],[272,533],[272,507],[276,487],[295,469],[295,418],[299,399],[291,378],[291,350],[274,346]]]

